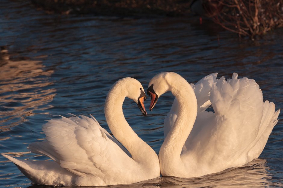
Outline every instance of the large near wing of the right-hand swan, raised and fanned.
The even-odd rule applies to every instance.
[[[194,127],[202,127],[190,134],[186,145],[210,161],[221,159],[244,164],[248,147],[257,138],[263,116],[263,95],[253,79],[221,77],[211,88],[212,112],[198,114]],[[189,147],[189,146],[187,146]],[[228,166],[228,167],[227,167]],[[229,162],[225,168],[229,168]]]

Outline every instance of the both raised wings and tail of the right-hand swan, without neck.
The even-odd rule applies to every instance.
[[[215,164],[226,169],[259,157],[280,110],[275,112],[273,103],[263,103],[262,91],[253,79],[238,79],[236,73],[227,81],[224,77],[216,80],[216,76],[213,73],[191,84],[198,112],[181,155],[186,159],[193,154],[204,166],[213,169]],[[210,105],[214,113],[205,111]],[[173,126],[178,109],[175,99],[164,119],[164,137]]]

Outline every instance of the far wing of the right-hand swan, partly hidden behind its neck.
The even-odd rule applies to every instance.
[[[196,84],[191,84],[192,88],[194,89],[194,93],[197,98],[197,112],[204,112],[210,105],[210,90],[212,85],[216,82],[217,73],[209,74]],[[167,134],[171,130],[174,122],[176,121],[177,114],[179,113],[179,104],[178,100],[174,100],[172,107],[166,117],[164,118],[164,138],[166,138]]]

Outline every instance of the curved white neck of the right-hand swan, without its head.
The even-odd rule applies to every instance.
[[[193,128],[197,117],[197,99],[191,85],[181,76],[170,79],[167,83],[169,91],[178,100],[179,114],[160,148],[159,156],[163,160],[170,158],[173,162],[172,160],[180,160],[182,148]]]

